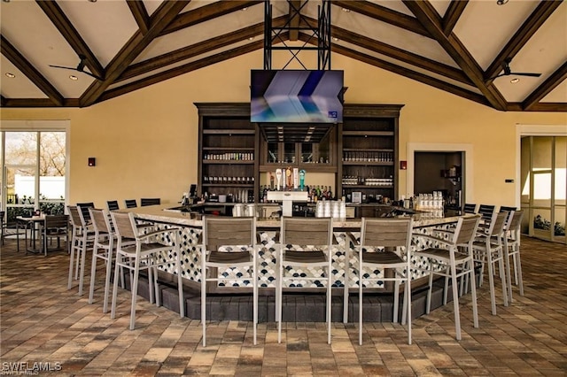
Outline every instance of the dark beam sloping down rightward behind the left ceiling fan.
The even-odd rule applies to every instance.
[[[84,55],[86,59],[85,65],[89,68],[90,73],[95,74],[98,77],[105,77],[105,68],[100,65],[97,57],[90,50],[89,45],[85,42],[77,29],[74,28],[73,24],[65,13],[59,8],[57,2],[54,1],[41,1],[36,0],[36,4],[42,9],[45,15],[50,19],[51,23],[57,27],[59,33],[63,35],[66,42],[74,50],[77,55]],[[79,61],[77,60],[77,64]]]

